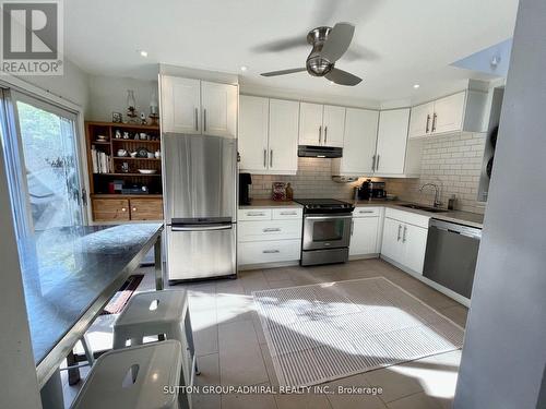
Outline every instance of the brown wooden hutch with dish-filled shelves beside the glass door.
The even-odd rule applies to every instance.
[[[121,137],[116,137],[116,131]],[[123,133],[129,139],[123,139]],[[141,140],[140,134],[150,135],[151,140]],[[135,134],[139,139],[134,139]],[[98,135],[105,136],[99,140]],[[161,220],[163,219],[162,159],[147,157],[117,156],[118,149],[128,153],[145,148],[150,153],[161,151],[159,127],[133,123],[85,122],[87,167],[90,175],[90,194],[95,221]],[[93,165],[93,152],[109,156],[110,170],[98,173]],[[123,171],[122,164],[129,171]],[[138,169],[153,169],[155,173],[140,173]],[[114,183],[124,188],[145,185],[147,194],[112,193]]]

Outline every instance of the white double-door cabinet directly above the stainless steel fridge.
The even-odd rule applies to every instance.
[[[162,131],[236,137],[237,86],[161,77]]]

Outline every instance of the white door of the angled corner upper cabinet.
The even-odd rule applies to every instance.
[[[410,108],[379,113],[376,173],[401,175],[404,172],[408,120]]]

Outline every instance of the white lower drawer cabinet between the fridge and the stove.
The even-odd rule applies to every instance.
[[[239,267],[299,260],[304,220],[300,207],[239,209],[238,218]]]

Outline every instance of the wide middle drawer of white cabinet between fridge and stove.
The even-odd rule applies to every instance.
[[[289,240],[301,238],[299,220],[240,221],[238,241]]]

